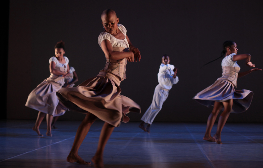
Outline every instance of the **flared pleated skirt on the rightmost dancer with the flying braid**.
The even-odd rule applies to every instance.
[[[241,113],[249,108],[252,97],[253,92],[250,90],[235,90],[230,81],[216,80],[214,84],[197,93],[193,99],[207,107],[214,106],[215,102],[233,99],[231,113]]]

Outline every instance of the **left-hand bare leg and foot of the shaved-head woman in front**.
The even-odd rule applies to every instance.
[[[90,130],[90,126],[93,124],[93,122],[97,119],[97,117],[91,113],[87,113],[84,120],[81,122],[81,124],[78,127],[73,146],[71,148],[71,151],[69,155],[67,156],[68,162],[77,162],[79,164],[90,164],[90,162],[84,161],[79,155],[78,155],[78,149],[80,145],[82,144],[83,140],[85,139],[87,133]]]

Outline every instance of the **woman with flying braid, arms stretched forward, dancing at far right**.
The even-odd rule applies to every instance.
[[[221,56],[224,57],[221,63],[223,69],[222,77],[218,78],[215,83],[208,88],[197,93],[193,98],[198,103],[207,107],[214,106],[212,113],[208,117],[206,132],[203,139],[216,142],[217,144],[222,144],[221,132],[229,114],[246,111],[252,101],[252,91],[234,89],[237,86],[237,78],[257,70],[262,70],[254,68],[240,73],[240,67],[237,61],[246,60],[246,65],[249,67],[255,67],[255,65],[250,62],[250,54],[237,55],[237,52],[238,49],[235,42],[225,41],[223,43],[223,51],[221,53]],[[221,110],[223,110],[223,112],[219,116],[217,130],[212,137],[211,130]]]

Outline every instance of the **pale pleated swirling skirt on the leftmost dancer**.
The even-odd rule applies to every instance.
[[[55,116],[63,115],[67,108],[59,104],[56,91],[62,85],[44,80],[28,96],[25,106]]]

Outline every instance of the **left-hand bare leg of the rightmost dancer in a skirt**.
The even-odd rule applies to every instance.
[[[215,102],[212,113],[209,115],[207,119],[206,130],[203,138],[204,140],[215,142],[215,139],[211,136],[211,130],[215,124],[216,117],[222,108],[223,105],[221,102]]]

